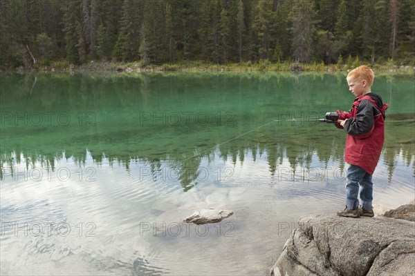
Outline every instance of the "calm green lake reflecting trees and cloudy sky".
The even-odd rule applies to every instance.
[[[344,74],[0,75],[1,274],[266,275],[299,216],[344,208]],[[414,199],[414,79],[390,104],[374,204]],[[279,120],[279,121],[276,121]],[[286,121],[288,120],[288,121]],[[198,208],[234,214],[196,226]]]

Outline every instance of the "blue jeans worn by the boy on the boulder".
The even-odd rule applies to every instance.
[[[374,184],[372,176],[359,166],[350,164],[347,169],[346,206],[354,210],[359,206],[358,195],[362,201],[362,208],[372,210]]]

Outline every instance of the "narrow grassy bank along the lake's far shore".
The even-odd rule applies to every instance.
[[[326,65],[324,63],[293,63],[293,62],[270,62],[261,60],[252,63],[210,63],[204,61],[181,61],[176,63],[144,64],[141,61],[134,62],[109,62],[89,61],[80,66],[69,64],[68,61],[37,61],[30,68],[15,68],[3,70],[6,72],[347,72],[360,65],[369,65],[365,61],[353,60],[344,63]],[[377,72],[398,72],[405,75],[414,75],[415,66],[395,65],[388,61],[384,64],[371,66]]]

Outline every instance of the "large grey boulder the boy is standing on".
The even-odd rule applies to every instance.
[[[271,275],[415,275],[414,263],[415,222],[308,215]]]

